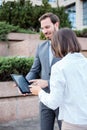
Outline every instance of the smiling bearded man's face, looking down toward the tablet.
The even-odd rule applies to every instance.
[[[56,22],[55,24],[53,24],[50,18],[46,18],[41,21],[41,30],[45,35],[45,37],[49,40],[51,40],[54,31],[58,30],[58,27],[59,27],[59,23]]]

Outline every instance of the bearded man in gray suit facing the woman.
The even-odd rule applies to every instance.
[[[53,56],[50,45],[54,31],[57,31],[59,28],[59,18],[53,13],[46,13],[39,18],[39,22],[41,24],[41,30],[48,40],[42,44],[39,44],[34,63],[30,72],[26,75],[26,79],[28,81],[37,79],[32,80],[34,84],[36,83],[38,85],[40,84],[40,86],[41,84],[42,86],[47,86],[43,89],[49,93],[51,66],[56,61],[60,60],[60,58]],[[39,77],[41,77],[41,80]],[[59,109],[53,111],[40,102],[41,130],[53,130],[55,117],[58,119],[58,113]],[[58,121],[59,127],[60,124],[61,122]]]

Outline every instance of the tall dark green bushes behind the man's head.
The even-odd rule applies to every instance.
[[[48,0],[42,0],[41,6],[33,6],[30,1],[23,3],[23,0],[20,2],[3,2],[0,8],[0,21],[6,21],[20,28],[39,31],[40,23],[38,18],[46,12],[53,12],[59,16],[60,27],[70,27],[68,14],[65,13],[64,7],[52,8]]]

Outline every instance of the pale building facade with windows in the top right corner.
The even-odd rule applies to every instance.
[[[59,0],[59,6],[66,7],[73,28],[87,28],[87,0]]]

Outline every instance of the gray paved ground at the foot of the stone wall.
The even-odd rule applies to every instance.
[[[39,118],[37,117],[0,124],[0,130],[40,130]],[[54,130],[58,130],[57,123],[55,123]]]

